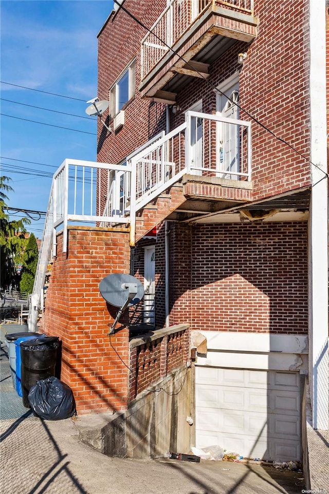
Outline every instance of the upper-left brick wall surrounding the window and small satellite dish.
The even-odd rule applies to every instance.
[[[147,26],[152,26],[166,0],[125,0],[124,7]],[[98,161],[117,163],[153,135],[164,130],[166,105],[141,100],[140,40],[146,34],[122,9],[112,15],[98,38],[98,97],[108,100],[109,89],[127,64],[136,57],[136,95],[122,109],[125,124],[122,129],[106,135],[98,126]],[[104,115],[106,118],[106,115]],[[109,122],[112,124],[112,121]],[[105,137],[106,136],[106,137]]]

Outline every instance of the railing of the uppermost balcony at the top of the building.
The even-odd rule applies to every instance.
[[[253,13],[253,0],[172,0],[141,41],[142,80],[211,5]]]

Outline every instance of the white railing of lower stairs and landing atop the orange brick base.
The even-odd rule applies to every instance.
[[[43,308],[43,287],[47,265],[56,255],[56,231],[63,227],[63,252],[67,248],[67,226],[71,223],[129,223],[123,217],[124,198],[117,194],[118,176],[130,174],[129,166],[66,159],[54,174],[45,225],[29,297],[29,331],[34,331],[39,309]],[[107,180],[106,180],[107,177]],[[113,185],[114,184],[114,185]],[[115,193],[113,192],[115,191]],[[104,209],[104,197],[109,197]]]

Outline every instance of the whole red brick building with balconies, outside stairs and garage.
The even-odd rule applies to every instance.
[[[97,227],[64,222],[42,318],[62,377],[79,411],[126,411],[188,362],[190,446],[300,460],[307,374],[328,428],[325,2],[119,4],[98,34],[112,168]],[[144,284],[142,339],[108,343],[111,272]]]

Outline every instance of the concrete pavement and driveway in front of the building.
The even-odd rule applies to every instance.
[[[34,417],[13,389],[2,325],[0,491],[13,494],[300,494],[302,473],[258,464],[108,458],[79,442],[76,421]],[[326,487],[323,487],[326,488]]]

